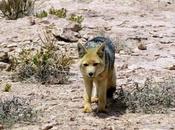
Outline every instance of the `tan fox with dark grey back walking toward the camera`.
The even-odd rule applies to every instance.
[[[85,84],[83,112],[92,112],[93,101],[98,103],[97,112],[106,112],[107,98],[112,97],[116,90],[115,46],[109,38],[97,36],[85,45],[78,43],[77,49]]]

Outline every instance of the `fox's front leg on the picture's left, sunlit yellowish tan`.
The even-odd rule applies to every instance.
[[[85,91],[84,91],[84,109],[83,112],[89,113],[92,111],[91,108],[91,95],[92,95],[92,87],[93,82],[88,78],[84,78],[85,83]]]

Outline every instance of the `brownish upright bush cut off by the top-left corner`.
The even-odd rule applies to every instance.
[[[33,0],[2,0],[0,1],[0,10],[8,19],[17,19],[28,16],[33,12]]]

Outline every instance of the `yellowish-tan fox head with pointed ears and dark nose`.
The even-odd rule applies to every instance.
[[[80,71],[83,76],[95,78],[105,70],[104,51],[104,44],[86,49],[81,43],[78,43]]]

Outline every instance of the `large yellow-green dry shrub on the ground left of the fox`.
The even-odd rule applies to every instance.
[[[15,58],[13,68],[20,80],[35,79],[41,83],[65,83],[68,81],[72,63],[69,51],[56,45],[49,31],[41,37],[42,45],[37,51],[23,49]]]

